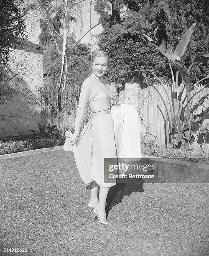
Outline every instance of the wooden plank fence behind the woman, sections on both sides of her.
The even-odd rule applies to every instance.
[[[162,85],[151,83],[146,84],[143,82],[142,79],[140,79],[134,83],[127,82],[125,83],[125,86],[122,86],[119,83],[112,83],[111,88],[113,92],[112,104],[126,103],[137,106],[140,123],[143,128],[143,136],[148,139],[156,139],[156,142],[158,144],[166,145],[168,140],[168,136],[166,136],[166,122],[168,122],[168,120],[166,118],[166,108],[163,100],[165,101],[168,109],[170,108],[168,103],[168,97]],[[72,89],[70,86],[66,87],[66,89],[67,90],[65,97],[69,99],[72,95]],[[169,84],[166,84],[166,90],[169,95],[171,95],[171,88]],[[197,103],[203,95],[209,93],[209,88],[204,87],[204,85],[199,85],[197,92],[198,91],[200,91],[199,94],[196,94],[194,96],[193,102],[195,103]],[[186,92],[184,92],[183,96],[185,95]],[[53,94],[53,92],[50,92],[48,96],[50,96],[50,101],[54,102],[54,105],[56,105],[56,96]],[[66,102],[66,110],[64,110],[63,114],[65,130],[72,130],[74,127],[75,110],[77,103],[78,101],[76,99],[71,99]],[[87,108],[84,115],[83,127],[91,118],[91,115],[89,115],[89,113],[90,111]],[[197,116],[204,116],[204,119],[199,122],[200,124],[209,123],[208,113],[209,100],[206,99],[204,101],[204,104],[202,104],[196,112]],[[48,113],[48,115],[45,115],[45,122],[48,123],[48,125],[54,125],[57,124],[57,119],[53,118],[52,115]],[[198,123],[196,123],[196,125],[198,125]],[[199,140],[199,144],[201,144],[202,142],[203,141]],[[206,143],[208,143],[207,137]],[[199,145],[196,143],[194,144],[194,147],[197,148],[199,147]]]

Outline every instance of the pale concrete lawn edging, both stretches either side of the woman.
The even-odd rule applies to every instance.
[[[28,156],[28,155],[33,155],[33,154],[38,154],[38,153],[43,153],[43,152],[48,152],[48,151],[61,150],[61,149],[63,149],[63,146],[54,146],[51,148],[39,148],[39,149],[34,149],[34,150],[22,151],[22,152],[18,152],[18,153],[5,154],[5,155],[0,155],[0,160],[14,158],[14,157],[18,157],[18,156]],[[162,162],[167,162],[167,163],[172,163],[172,164],[183,164],[186,166],[191,166],[191,167],[196,167],[196,168],[204,168],[207,170],[209,169],[209,166],[207,164],[198,164],[198,163],[176,160],[176,159],[171,159],[171,158],[163,158],[163,157],[148,156],[148,155],[142,155],[142,158],[154,158],[154,159],[158,159],[158,161],[162,161]]]

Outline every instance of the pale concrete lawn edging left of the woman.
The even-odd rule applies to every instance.
[[[55,146],[55,147],[51,147],[51,148],[39,148],[39,149],[34,149],[34,150],[22,151],[22,152],[18,152],[18,153],[5,154],[5,155],[0,156],[0,160],[14,158],[14,157],[18,157],[18,156],[28,156],[28,155],[47,152],[47,151],[60,150],[60,149],[63,149],[63,146]]]

